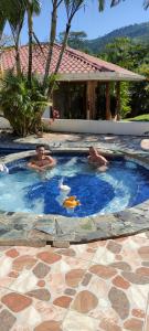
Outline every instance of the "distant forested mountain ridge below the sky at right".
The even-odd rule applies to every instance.
[[[124,26],[105,34],[104,36],[93,40],[85,40],[84,49],[92,53],[98,54],[104,50],[106,44],[111,43],[115,38],[120,36],[128,36],[135,42],[149,43],[149,22]]]

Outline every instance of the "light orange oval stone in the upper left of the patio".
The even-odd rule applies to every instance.
[[[36,264],[36,259],[30,255],[19,256],[13,260],[12,268],[14,270],[21,271],[24,267],[31,269]]]

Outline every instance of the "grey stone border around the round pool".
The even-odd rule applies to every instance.
[[[87,152],[87,149],[56,149],[55,153],[72,153],[73,151],[82,153]],[[33,154],[34,151],[32,150],[13,153],[1,157],[0,162],[8,163]],[[106,154],[110,158],[123,156],[149,169],[149,156],[147,154],[130,154],[109,150],[105,152]],[[149,200],[123,212],[86,217],[0,211],[0,245],[2,246],[26,245],[40,247],[52,244],[56,247],[68,247],[70,243],[88,243],[128,236],[145,231],[149,231]]]

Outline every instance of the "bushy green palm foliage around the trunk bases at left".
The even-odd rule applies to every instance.
[[[18,77],[10,71],[2,78],[0,105],[14,132],[25,137],[41,129],[41,117],[49,104],[35,75],[32,76],[30,88],[26,76],[22,74]]]

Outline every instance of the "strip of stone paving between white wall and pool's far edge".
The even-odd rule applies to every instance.
[[[146,138],[146,139],[145,139]],[[45,143],[51,149],[67,149],[67,148],[88,148],[96,146],[105,150],[127,151],[132,153],[149,152],[149,135],[148,137],[134,136],[114,136],[114,135],[86,135],[86,134],[60,134],[46,132],[43,137],[29,136],[25,138],[13,137],[8,131],[0,134],[0,148],[21,148],[33,149],[36,143]]]

